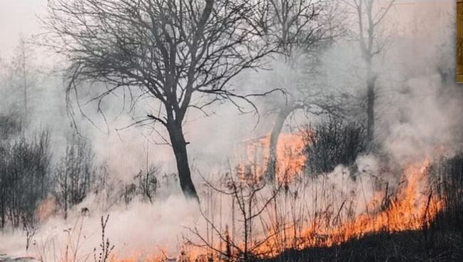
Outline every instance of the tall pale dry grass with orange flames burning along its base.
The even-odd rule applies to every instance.
[[[360,239],[371,244],[385,236],[411,237],[407,232],[429,229],[444,206],[429,184],[429,164],[409,164],[395,189],[365,175],[353,180],[346,169],[333,177],[299,177],[271,188],[241,180],[229,180],[225,188],[208,184],[202,205],[206,231],[190,229],[179,255],[169,256],[161,248],[153,255],[118,255],[111,261],[287,261],[288,254],[301,261],[297,252],[300,258],[310,250],[343,253],[346,246],[361,246]],[[375,188],[370,193],[369,184]]]

